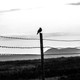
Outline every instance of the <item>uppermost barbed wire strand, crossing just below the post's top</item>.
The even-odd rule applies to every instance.
[[[38,38],[21,38],[21,37],[8,37],[0,36],[1,38],[18,39],[18,40],[39,40]],[[44,39],[43,41],[58,41],[58,42],[80,42],[80,40],[59,40],[59,39]]]

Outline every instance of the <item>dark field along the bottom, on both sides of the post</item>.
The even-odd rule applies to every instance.
[[[80,57],[45,59],[45,80],[80,80]],[[0,62],[1,80],[41,80],[41,61]]]

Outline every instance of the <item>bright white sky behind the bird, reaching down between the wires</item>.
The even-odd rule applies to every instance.
[[[42,27],[43,33],[46,34],[45,38],[79,40],[79,21],[80,0],[0,1],[0,36],[33,35],[35,37],[39,27]],[[39,46],[39,42],[4,40],[1,37],[0,40],[0,45],[34,46],[36,44],[35,46]],[[44,42],[45,46],[53,47],[79,47],[79,44],[80,42]],[[0,51],[23,52],[23,50],[16,52],[13,49],[5,50],[1,48]],[[36,50],[32,50],[32,52],[35,53]]]

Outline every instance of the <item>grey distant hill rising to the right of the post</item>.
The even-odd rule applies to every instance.
[[[51,48],[48,49],[45,54],[79,54],[80,53],[80,49],[77,48]]]

